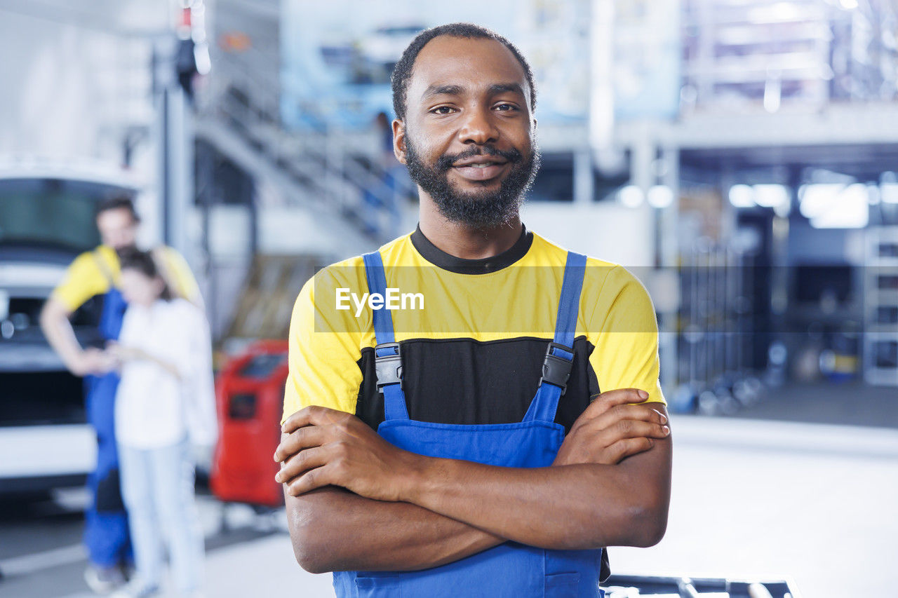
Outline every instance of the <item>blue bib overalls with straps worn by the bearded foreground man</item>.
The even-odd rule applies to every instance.
[[[365,254],[369,293],[384,293],[386,279],[377,252]],[[377,433],[413,453],[504,467],[548,467],[564,440],[555,411],[570,373],[577,327],[577,306],[586,258],[568,253],[554,342],[549,344],[543,376],[524,420],[511,424],[433,424],[409,418],[401,386],[401,356],[392,316],[374,311],[377,386],[383,390],[385,419]],[[602,549],[545,550],[514,541],[421,571],[339,571],[334,589],[343,596],[528,596],[601,598]]]

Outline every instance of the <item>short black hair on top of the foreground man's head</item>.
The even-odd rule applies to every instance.
[[[447,25],[440,25],[431,29],[426,29],[418,33],[418,37],[411,40],[408,48],[402,52],[402,56],[392,72],[392,92],[393,92],[393,111],[396,118],[405,120],[405,105],[407,101],[406,94],[409,91],[409,80],[411,79],[411,69],[415,65],[415,59],[421,48],[427,46],[427,42],[441,35],[448,35],[453,38],[467,38],[469,40],[496,40],[517,58],[521,68],[524,69],[524,76],[527,84],[530,86],[530,106],[531,110],[536,108],[536,85],[533,84],[533,70],[527,64],[526,58],[521,51],[515,47],[515,44],[506,40],[496,31],[489,31],[486,27],[474,25],[470,22],[453,22]]]

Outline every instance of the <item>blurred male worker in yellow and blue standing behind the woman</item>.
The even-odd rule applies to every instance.
[[[88,476],[91,504],[85,513],[84,544],[90,565],[84,579],[95,592],[105,593],[126,581],[124,569],[133,563],[128,515],[119,490],[119,455],[114,429],[114,401],[119,374],[100,347],[81,347],[69,317],[92,297],[101,297],[102,339],[119,338],[127,303],[119,292],[119,251],[135,247],[140,219],[130,198],[110,198],[97,207],[101,245],[85,251],[66,270],[40,314],[40,326],[68,370],[84,376],[87,420],[97,435],[96,469]],[[200,303],[199,287],[177,251],[154,251],[174,292]]]

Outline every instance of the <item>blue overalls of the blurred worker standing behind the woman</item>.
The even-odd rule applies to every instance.
[[[119,338],[121,321],[128,304],[119,289],[112,286],[103,296],[100,333],[103,339]],[[84,377],[87,421],[97,435],[97,467],[87,477],[91,504],[84,514],[84,544],[88,557],[98,567],[129,563],[128,514],[119,489],[119,451],[115,441],[115,392],[119,374]]]

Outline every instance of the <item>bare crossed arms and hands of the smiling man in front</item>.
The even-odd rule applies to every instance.
[[[659,404],[605,392],[551,467],[424,457],[361,420],[310,407],[284,424],[275,460],[299,564],[313,573],[436,567],[506,540],[549,549],[660,541],[671,441]]]

